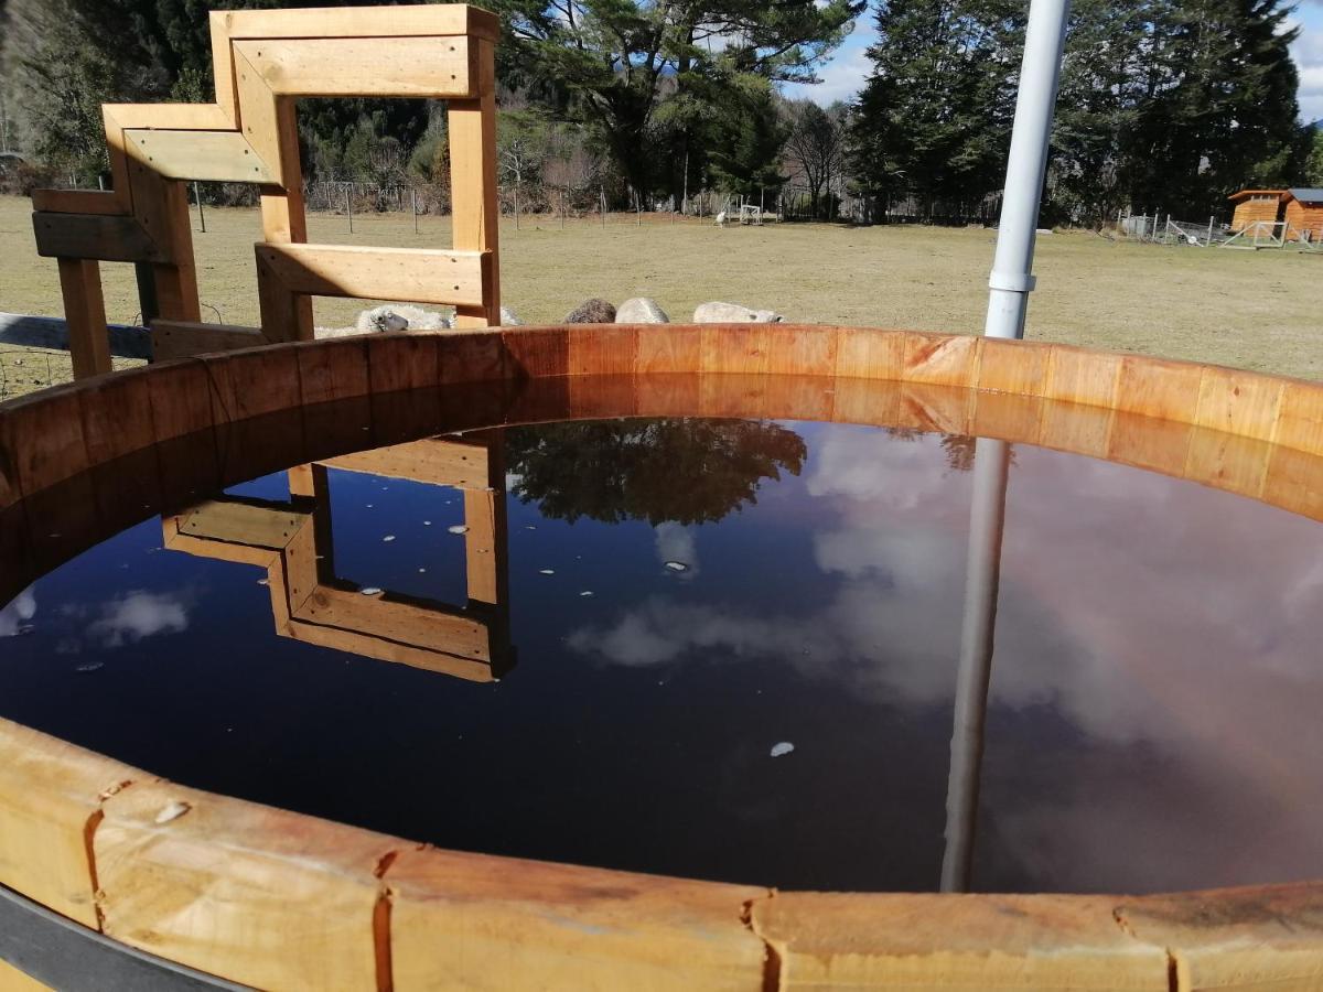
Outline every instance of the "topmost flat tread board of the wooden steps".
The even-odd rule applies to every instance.
[[[314,7],[300,11],[218,11],[230,38],[401,38],[426,34],[499,37],[496,15],[467,4],[421,7]]]

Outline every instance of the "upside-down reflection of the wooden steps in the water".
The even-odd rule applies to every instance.
[[[464,497],[468,602],[364,595],[335,575],[328,468],[448,485]],[[493,436],[431,438],[290,470],[287,503],[225,496],[163,517],[165,546],[265,567],[284,638],[471,681],[509,671],[504,458]]]

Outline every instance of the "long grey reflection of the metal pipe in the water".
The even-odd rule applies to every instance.
[[[946,850],[942,891],[967,891],[974,869],[979,813],[979,771],[987,720],[992,640],[996,630],[1002,530],[1011,446],[979,438],[974,450],[974,497],[970,509],[970,554],[964,575],[964,622],[960,667],[955,676],[951,772],[946,786]]]

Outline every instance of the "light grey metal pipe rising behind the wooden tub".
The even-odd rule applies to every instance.
[[[1048,168],[1052,111],[1057,102],[1069,11],[1070,0],[1029,3],[1002,222],[988,279],[991,292],[983,327],[988,337],[1024,337],[1024,312],[1033,290],[1033,234],[1039,227],[1039,201]]]

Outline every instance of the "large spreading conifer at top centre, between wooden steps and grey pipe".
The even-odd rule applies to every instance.
[[[587,124],[638,193],[675,181],[662,151],[687,116],[659,120],[692,93],[710,102],[742,78],[812,82],[864,0],[497,0],[511,60]],[[679,126],[679,131],[672,130]],[[664,190],[675,192],[675,190]]]

